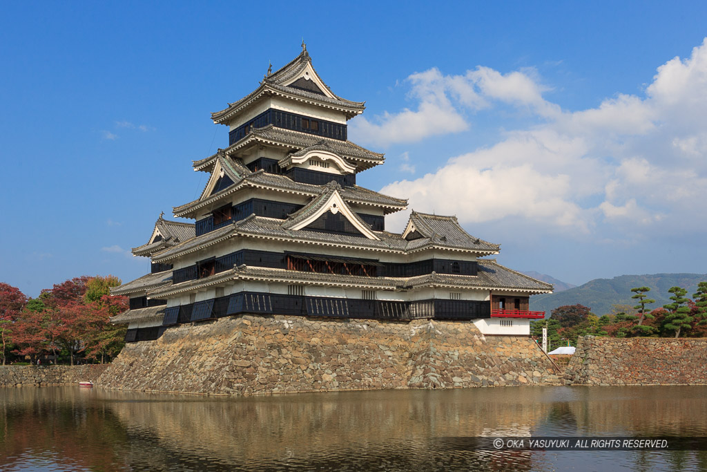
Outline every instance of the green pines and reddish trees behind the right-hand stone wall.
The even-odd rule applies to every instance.
[[[671,287],[672,303],[651,309],[655,300],[648,298],[650,287],[634,287],[631,299],[636,306],[614,305],[612,313],[596,316],[587,306],[564,305],[551,311],[550,318],[533,321],[530,335],[542,338],[547,327],[551,347],[577,345],[580,336],[612,336],[614,338],[703,338],[707,337],[707,282],[697,285],[692,299],[687,290]]]

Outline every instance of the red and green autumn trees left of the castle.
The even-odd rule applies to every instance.
[[[127,297],[113,297],[110,287],[122,284],[107,277],[74,277],[40,296],[0,282],[0,357],[2,364],[45,359],[73,365],[106,362],[124,346],[126,328],[110,323],[128,308]]]

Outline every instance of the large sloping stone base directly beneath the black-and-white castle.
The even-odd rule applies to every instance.
[[[484,337],[471,322],[246,315],[129,343],[98,384],[250,395],[559,384],[557,374],[530,338]]]

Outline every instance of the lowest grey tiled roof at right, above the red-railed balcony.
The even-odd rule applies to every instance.
[[[480,289],[520,290],[524,292],[549,293],[552,284],[541,282],[527,275],[498,264],[495,259],[479,259],[477,275],[427,274],[409,277],[406,287],[478,287]]]

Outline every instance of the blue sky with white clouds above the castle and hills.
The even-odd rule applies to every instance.
[[[129,248],[228,143],[209,113],[302,38],[366,100],[349,137],[387,161],[360,185],[457,214],[518,270],[707,272],[707,4],[497,3],[4,4],[0,281],[147,272]]]

